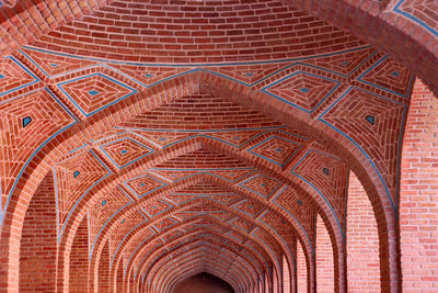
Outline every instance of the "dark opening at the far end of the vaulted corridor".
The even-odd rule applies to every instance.
[[[212,274],[203,272],[178,283],[174,293],[234,293],[232,286]]]

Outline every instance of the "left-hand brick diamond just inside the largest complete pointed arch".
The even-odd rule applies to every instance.
[[[101,149],[118,168],[126,167],[153,153],[152,148],[129,137],[102,145]]]

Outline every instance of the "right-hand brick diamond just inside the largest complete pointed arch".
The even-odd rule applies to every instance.
[[[278,136],[270,136],[251,147],[247,151],[273,164],[285,167],[300,148],[301,144],[297,142]]]

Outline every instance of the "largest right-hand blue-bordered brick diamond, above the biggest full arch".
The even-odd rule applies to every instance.
[[[297,71],[265,87],[264,91],[284,102],[311,113],[339,84],[339,81],[330,78]]]

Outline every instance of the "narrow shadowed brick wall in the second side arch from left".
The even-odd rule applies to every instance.
[[[76,233],[70,252],[69,292],[88,292],[89,286],[89,229],[87,216]]]

